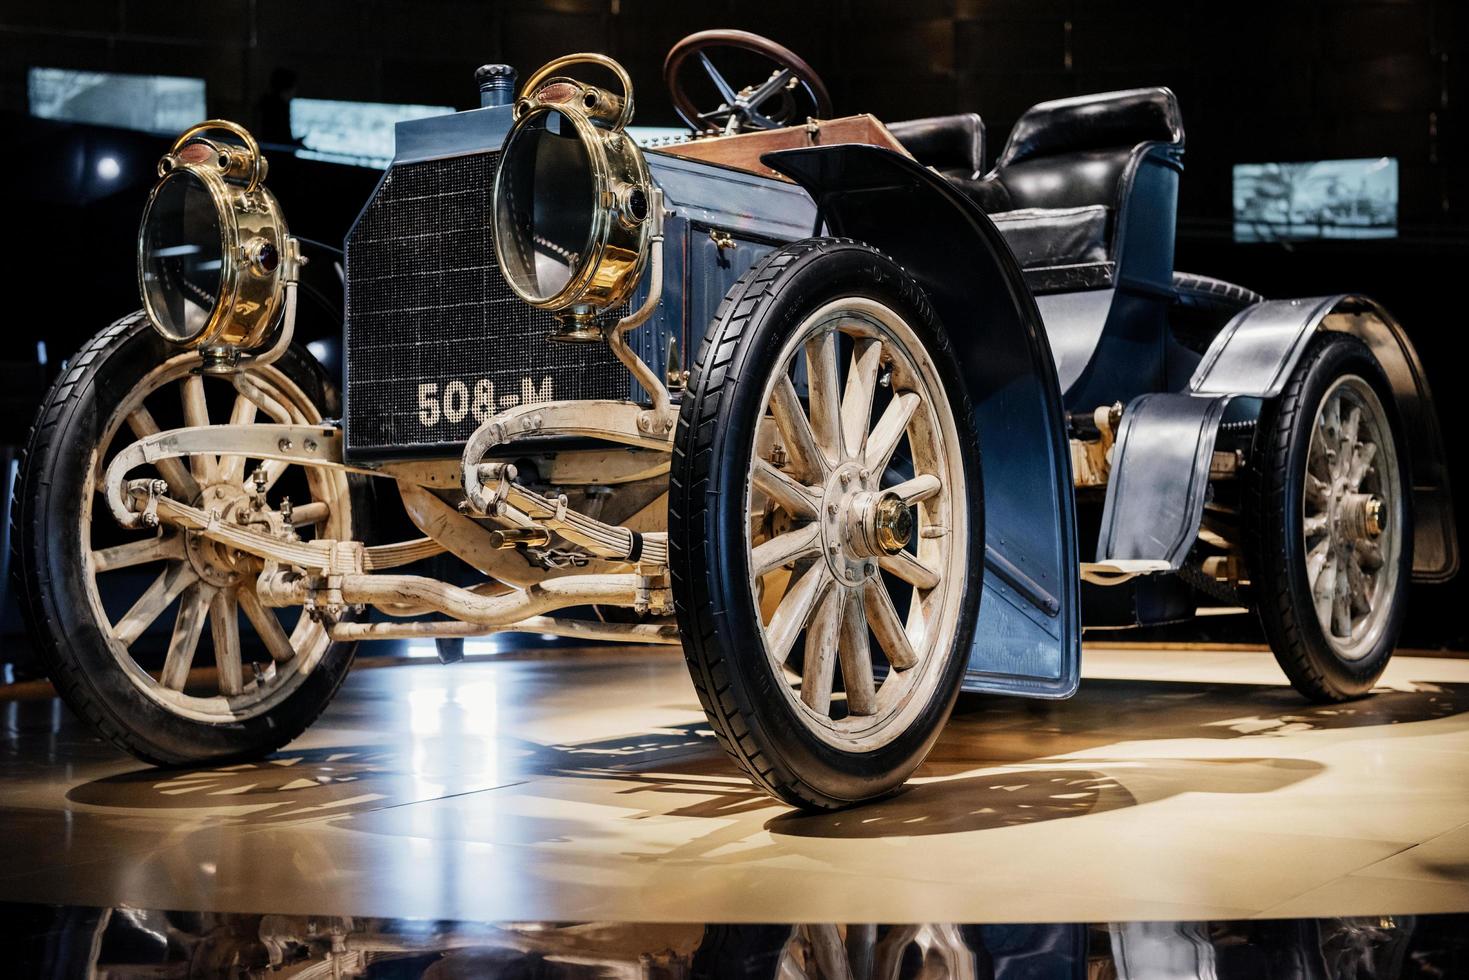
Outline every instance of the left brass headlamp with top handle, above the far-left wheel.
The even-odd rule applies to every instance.
[[[239,125],[201,122],[159,160],[159,178],[138,229],[138,289],[153,329],[231,357],[263,347],[301,259],[263,185],[260,145]]]

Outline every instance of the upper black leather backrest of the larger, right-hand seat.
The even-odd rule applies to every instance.
[[[975,197],[986,212],[1121,207],[1141,144],[1184,144],[1178,97],[1163,87],[1058,98],[1031,106]]]

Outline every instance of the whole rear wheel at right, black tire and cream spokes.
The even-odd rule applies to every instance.
[[[1256,432],[1256,604],[1291,685],[1313,701],[1368,693],[1403,626],[1413,526],[1393,404],[1368,347],[1322,334]]]

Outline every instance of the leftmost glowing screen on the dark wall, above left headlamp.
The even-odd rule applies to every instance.
[[[32,68],[31,115],[101,126],[179,132],[204,115],[204,79]]]

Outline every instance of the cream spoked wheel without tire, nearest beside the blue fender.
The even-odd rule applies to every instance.
[[[811,313],[776,364],[746,497],[762,644],[812,733],[876,748],[931,693],[958,623],[970,514],[952,411],[912,328],[867,297]]]

